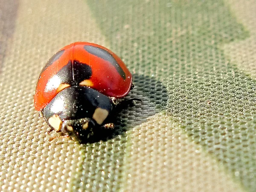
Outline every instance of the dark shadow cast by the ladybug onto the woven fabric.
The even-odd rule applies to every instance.
[[[133,83],[134,88],[123,101],[121,100],[120,105],[113,110],[107,120],[112,122],[115,127],[113,129],[97,128],[99,130],[95,130],[93,136],[80,141],[80,143],[95,143],[124,135],[134,126],[145,122],[149,116],[166,108],[168,94],[162,82],[154,77],[134,74]],[[141,99],[142,102],[128,102],[132,98]]]

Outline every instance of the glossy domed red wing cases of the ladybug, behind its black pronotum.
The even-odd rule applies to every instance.
[[[90,66],[91,76],[81,86],[87,86],[109,96],[121,98],[131,89],[132,75],[123,61],[111,50],[98,44],[75,42],[60,49],[41,71],[35,90],[34,104],[41,111],[67,85],[62,79],[73,79],[74,71],[58,76],[67,64],[79,62]]]

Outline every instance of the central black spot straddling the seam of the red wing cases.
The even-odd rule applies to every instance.
[[[73,64],[72,61],[68,61],[68,64],[62,67],[56,75],[61,79],[61,83],[78,85],[81,81],[90,79],[92,69],[89,65],[74,60]]]

